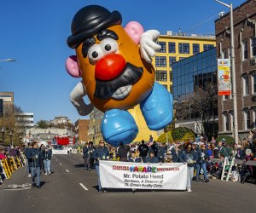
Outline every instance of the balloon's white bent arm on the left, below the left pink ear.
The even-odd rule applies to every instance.
[[[82,82],[79,82],[70,94],[70,101],[77,108],[79,115],[88,115],[93,110],[92,104],[86,104],[83,97],[87,95]]]

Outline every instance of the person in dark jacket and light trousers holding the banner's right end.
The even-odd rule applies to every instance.
[[[198,157],[197,154],[192,151],[192,145],[190,143],[186,144],[184,148],[183,163],[188,165],[187,192],[191,193],[191,180],[194,176],[194,164],[196,163]]]

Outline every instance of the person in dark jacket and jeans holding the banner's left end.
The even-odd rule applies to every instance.
[[[96,147],[95,152],[93,153],[93,158],[96,159],[96,174],[98,176],[98,190],[99,193],[107,193],[106,190],[102,191],[102,185],[100,180],[100,164],[99,160],[108,160],[109,159],[109,151],[108,148],[105,147],[105,143],[103,140],[99,142],[100,146]]]

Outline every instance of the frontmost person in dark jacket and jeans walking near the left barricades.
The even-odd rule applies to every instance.
[[[26,158],[28,159],[29,168],[31,170],[32,187],[37,186],[37,188],[40,188],[40,164],[44,157],[42,152],[38,149],[37,141],[32,142],[32,148],[27,150]]]

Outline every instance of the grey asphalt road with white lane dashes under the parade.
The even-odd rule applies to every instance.
[[[31,183],[26,169],[16,170],[0,187],[0,212],[255,212],[256,185],[212,180],[193,182],[192,193],[111,191],[98,193],[95,170],[83,170],[81,155],[55,155],[51,176],[42,188],[14,188]]]

